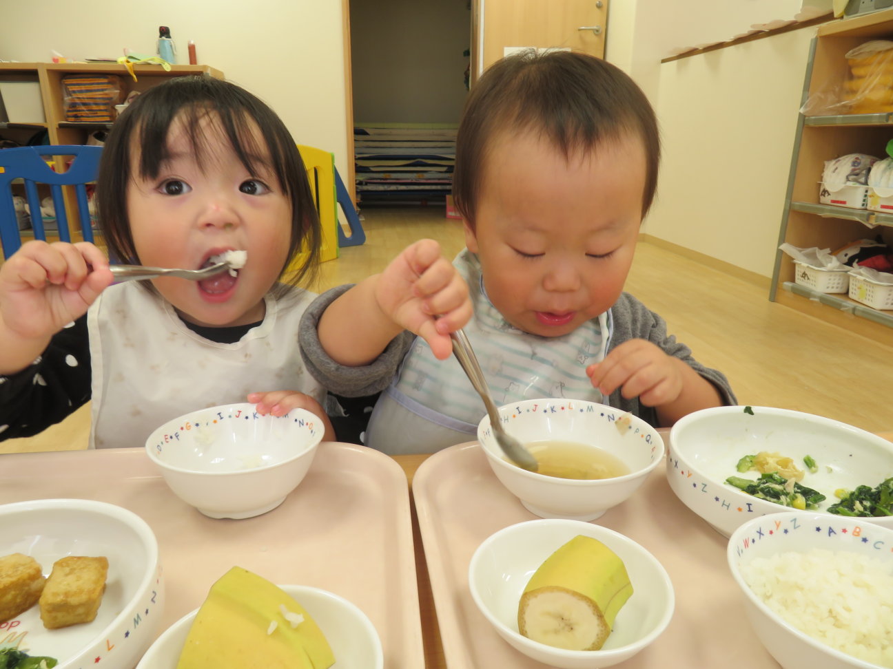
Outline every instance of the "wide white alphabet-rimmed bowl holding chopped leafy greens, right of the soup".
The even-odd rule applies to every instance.
[[[696,411],[673,425],[667,449],[667,479],[673,492],[698,516],[728,537],[755,516],[792,510],[724,483],[729,476],[756,479],[756,472],[739,474],[738,461],[761,450],[779,451],[805,469],[810,455],[819,467],[806,472],[803,484],[827,499],[818,511],[838,501],[838,488],[872,488],[893,476],[893,443],[846,423],[812,414],[753,407],[720,407]],[[832,468],[831,472],[825,468]],[[806,513],[810,513],[807,511]],[[893,528],[893,516],[865,518]]]

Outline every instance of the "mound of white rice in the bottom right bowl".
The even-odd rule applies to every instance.
[[[893,575],[877,558],[813,549],[741,565],[764,604],[815,640],[874,665],[893,667]]]

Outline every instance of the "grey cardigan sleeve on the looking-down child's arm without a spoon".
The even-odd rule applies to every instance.
[[[611,338],[610,351],[630,339],[645,339],[661,348],[667,355],[679,358],[690,368],[694,369],[707,381],[714,384],[716,390],[722,395],[722,401],[727,406],[738,404],[735,393],[732,392],[729,380],[715,369],[707,368],[694,359],[691,349],[684,343],[676,341],[674,335],[667,335],[667,324],[660,316],[634,298],[630,293],[622,293],[620,299],[613,305],[613,336]],[[651,425],[659,425],[657,411],[653,407],[646,407],[639,403],[638,397],[625,400],[620,390],[611,395],[611,406],[619,407],[632,413]]]

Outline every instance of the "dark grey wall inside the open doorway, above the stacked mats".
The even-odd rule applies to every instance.
[[[459,122],[467,0],[351,0],[350,32],[355,121]]]

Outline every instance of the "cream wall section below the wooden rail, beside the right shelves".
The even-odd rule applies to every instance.
[[[644,232],[772,276],[814,28],[660,66],[663,163]]]

